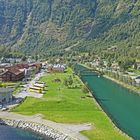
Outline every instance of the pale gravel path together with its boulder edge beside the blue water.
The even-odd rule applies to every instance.
[[[87,140],[79,132],[92,129],[91,124],[64,124],[42,119],[41,114],[33,116],[0,112],[1,123],[12,127],[30,129],[36,133],[58,140]]]

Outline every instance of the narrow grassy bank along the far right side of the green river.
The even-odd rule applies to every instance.
[[[119,80],[116,80],[116,79],[114,79],[112,77],[109,77],[107,75],[103,75],[103,77],[105,77],[105,78],[107,78],[107,79],[109,79],[109,80],[111,80],[111,81],[123,86],[124,88],[127,88],[128,90],[131,90],[131,91],[135,92],[136,94],[140,95],[140,90],[135,88],[135,87],[133,87],[133,86],[127,85],[127,84],[125,84],[125,83],[123,83],[123,82],[121,82]]]

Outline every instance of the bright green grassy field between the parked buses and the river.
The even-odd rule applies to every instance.
[[[91,123],[93,129],[82,132],[90,140],[128,139],[113,126],[97,103],[87,96],[88,93],[83,93],[81,88],[69,89],[64,85],[64,79],[70,75],[72,71],[69,69],[67,73],[47,74],[42,77],[41,81],[48,86],[44,97],[27,98],[13,111],[26,115],[41,113],[44,119],[62,123]],[[55,79],[60,79],[61,82],[55,82]],[[76,76],[73,79],[74,83],[79,81]]]

